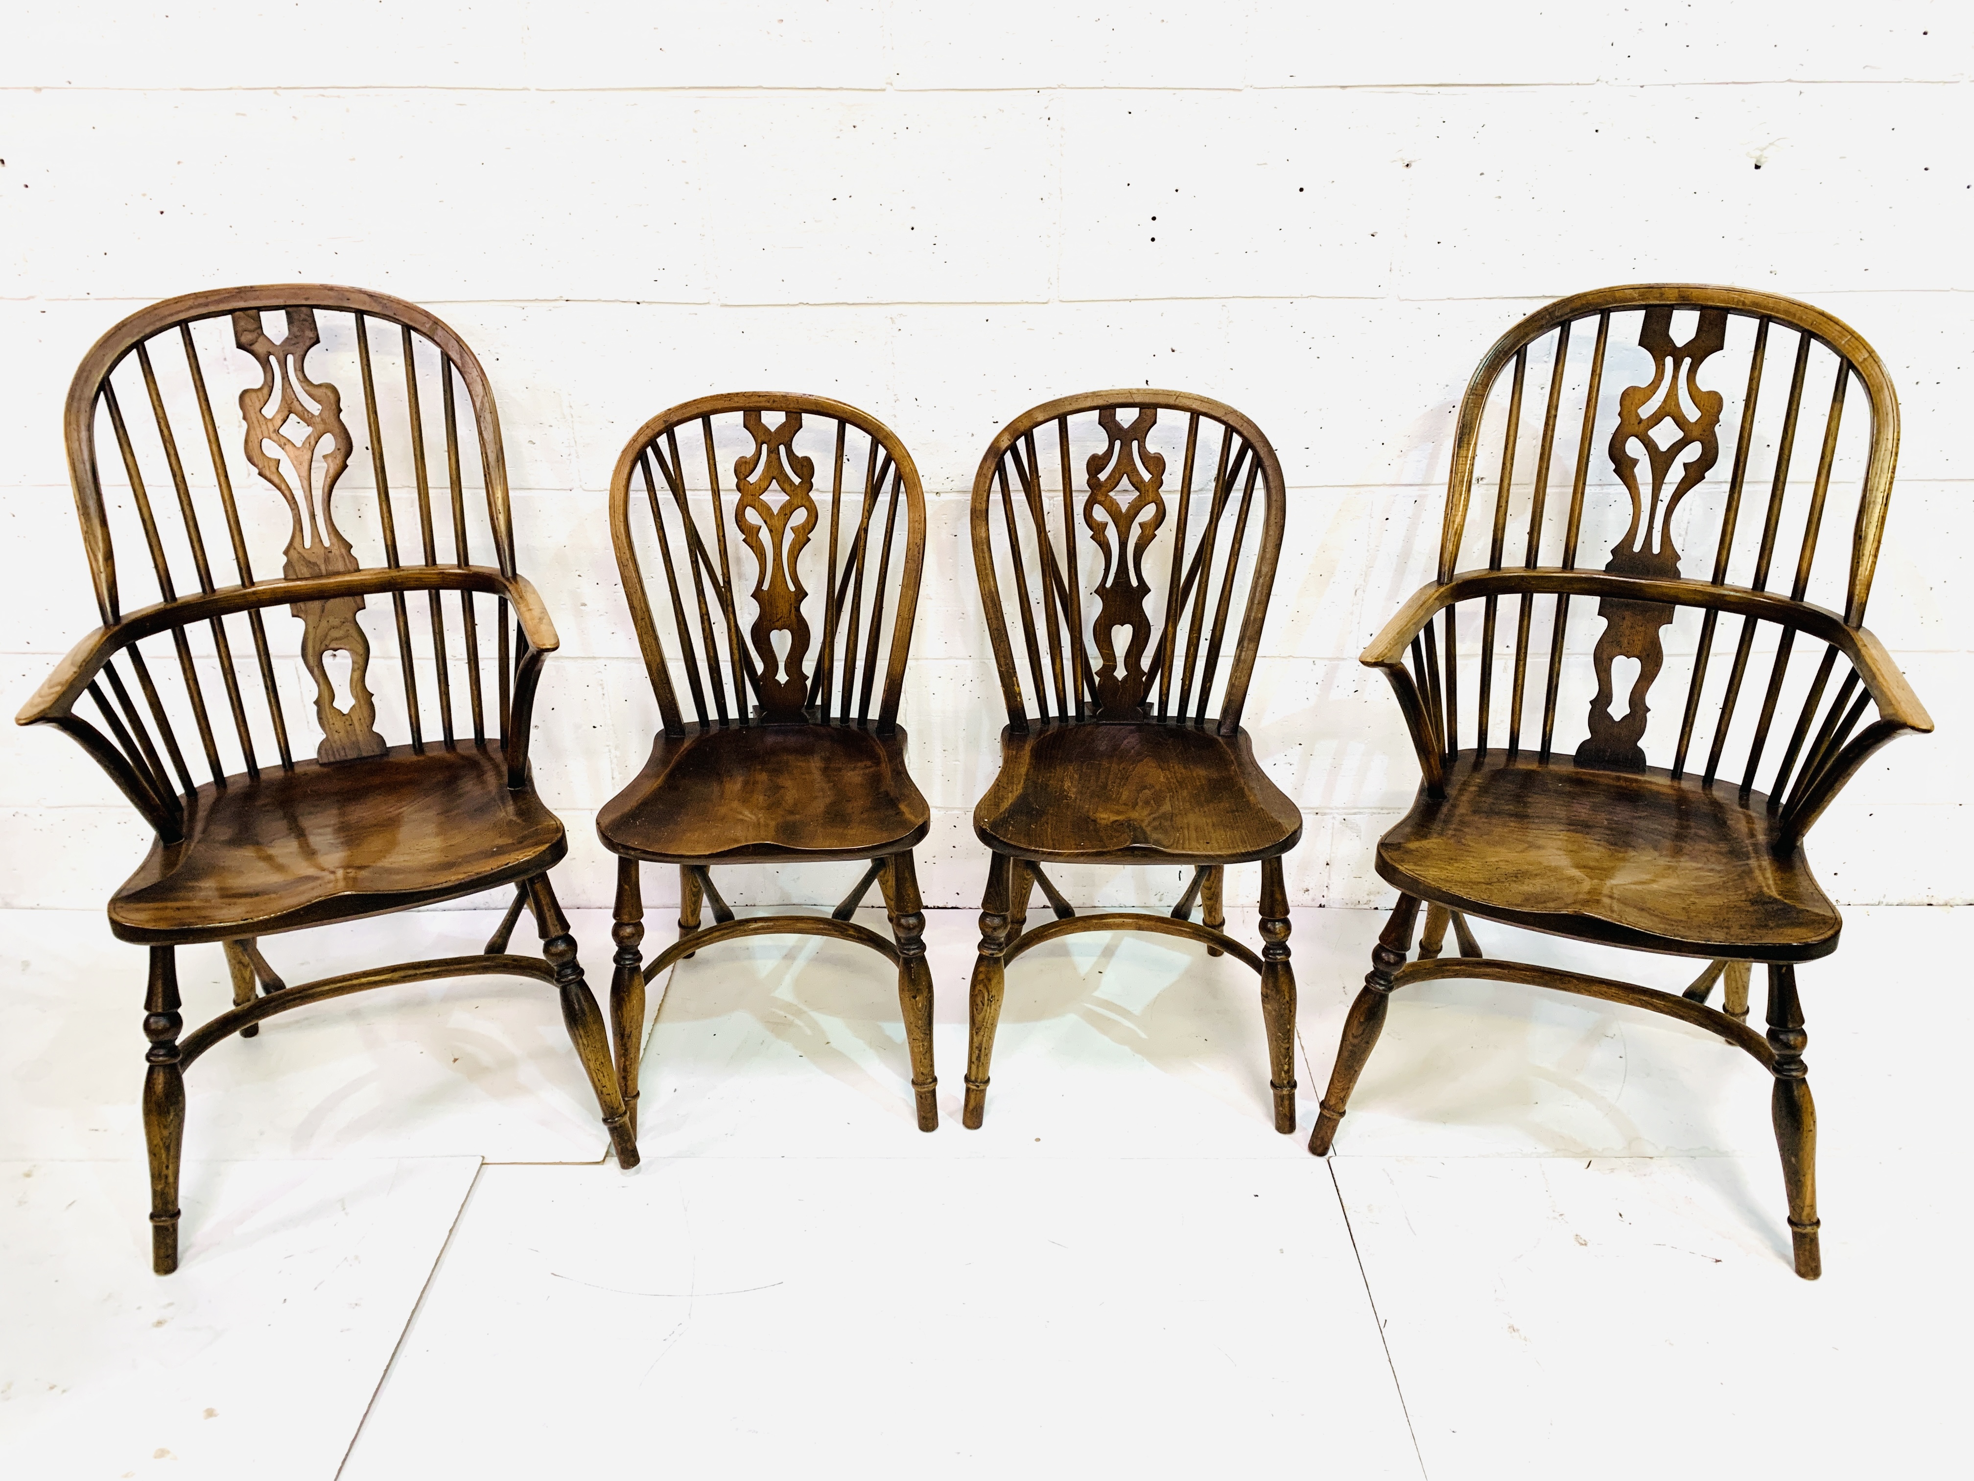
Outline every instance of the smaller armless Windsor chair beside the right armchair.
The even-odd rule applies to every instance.
[[[1171,417],[1161,425],[1163,413]],[[1175,460],[1177,509],[1165,484]],[[1082,559],[1078,521],[1094,545]],[[1050,401],[987,446],[973,478],[973,569],[1007,729],[1001,772],[973,810],[973,831],[993,859],[971,983],[965,1126],[979,1128],[987,1110],[1007,964],[1074,932],[1151,930],[1204,942],[1212,956],[1224,952],[1261,974],[1275,1130],[1295,1130],[1295,975],[1281,857],[1301,837],[1303,816],[1255,764],[1240,729],[1281,523],[1275,450],[1253,423],[1206,397],[1096,391]],[[1021,618],[1032,715],[1009,606]],[[1224,871],[1252,861],[1261,863],[1259,956],[1222,930]],[[1190,865],[1192,879],[1171,916],[1076,914],[1042,873],[1052,863]],[[1028,930],[1036,887],[1056,920]]]

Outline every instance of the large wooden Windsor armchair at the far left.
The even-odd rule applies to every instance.
[[[367,458],[343,417],[351,381],[361,385]],[[436,500],[434,401],[444,440]],[[75,373],[65,421],[103,626],[20,723],[71,735],[156,831],[150,857],[109,906],[111,930],[150,948],[142,1106],[154,1270],[178,1268],[186,1068],[229,1035],[257,1035],[274,1013],[367,987],[482,974],[551,983],[618,1159],[636,1165],[602,1013],[549,887],[567,843],[535,796],[527,740],[535,681],[557,638],[515,571],[499,421],[474,353],[422,308],[385,294],[217,288],[154,304],[105,334]],[[174,423],[203,432],[209,476],[195,444],[182,452]],[[462,452],[462,432],[474,450]],[[109,458],[99,442],[113,444]],[[401,478],[409,458],[417,486],[411,551],[399,543],[407,494],[391,488],[387,444]],[[474,470],[480,490],[468,500]],[[357,486],[367,472],[369,488],[338,500],[347,472]],[[170,494],[154,498],[162,488]],[[219,585],[227,573],[207,555],[205,531],[217,523],[237,585]],[[450,561],[440,559],[446,533]],[[156,602],[126,606],[118,537],[148,551]],[[472,565],[474,539],[492,565]],[[280,549],[278,577],[265,565],[257,575],[255,549]],[[387,618],[367,630],[365,610],[379,612],[373,594],[389,596]],[[282,608],[294,628],[282,626]],[[401,685],[371,691],[373,652],[395,662]],[[101,727],[77,713],[83,699]],[[393,744],[381,729],[405,740]],[[515,896],[482,956],[288,985],[259,948],[263,936],[503,885]],[[523,904],[543,958],[507,954]],[[209,942],[225,948],[233,1007],[182,1037],[176,952]]]

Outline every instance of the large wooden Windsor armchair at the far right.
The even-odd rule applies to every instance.
[[[1623,387],[1615,399],[1611,387]],[[1846,417],[1852,397],[1863,399],[1861,417]],[[1524,407],[1542,409],[1534,450]],[[1794,458],[1812,436],[1814,470]],[[1469,547],[1469,504],[1486,484],[1480,450],[1494,442],[1492,517]],[[1822,1272],[1796,964],[1834,952],[1842,920],[1802,839],[1871,752],[1933,729],[1861,626],[1897,448],[1899,407],[1871,346],[1775,294],[1605,288],[1530,314],[1486,353],[1461,403],[1437,581],[1362,660],[1392,681],[1423,778],[1378,843],[1378,873],[1400,898],[1350,1009],[1313,1153],[1329,1151],[1405,983],[1490,977],[1632,1003],[1709,1029],[1771,1070],[1794,1268]],[[1567,502],[1550,498],[1552,480]],[[1759,513],[1745,517],[1745,490],[1763,484]],[[1838,517],[1852,515],[1850,559],[1818,569],[1832,488],[1858,490],[1854,507],[1838,496]],[[1603,571],[1581,571],[1579,547],[1607,541]],[[1700,571],[1686,575],[1682,561]],[[1769,590],[1777,577],[1786,594]],[[1822,594],[1828,604],[1810,600]],[[1569,640],[1577,598],[1597,598],[1603,620],[1587,652]],[[1715,654],[1723,624],[1733,642]],[[1502,665],[1506,715],[1494,717]],[[1654,711],[1646,701],[1668,667],[1684,693]],[[1860,729],[1867,707],[1875,719]],[[1557,719],[1573,713],[1583,729],[1557,739]],[[1427,940],[1407,962],[1421,902]],[[1668,993],[1480,956],[1471,938],[1471,956],[1439,962],[1449,912],[1706,968]],[[1767,1035],[1747,1027],[1757,962],[1769,975]],[[1721,979],[1715,1009],[1708,997]]]

